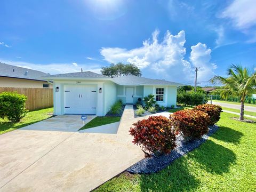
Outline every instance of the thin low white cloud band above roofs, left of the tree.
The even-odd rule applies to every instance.
[[[93,71],[94,73],[100,73],[100,66],[94,63],[79,64],[75,66],[73,63],[46,63],[46,64],[36,64],[36,63],[29,63],[29,62],[22,62],[22,61],[10,61],[0,59],[2,63],[6,63],[8,65],[14,65],[19,67],[24,67],[28,69],[39,70],[44,73],[50,73],[51,75],[54,74],[62,74],[62,73],[75,73],[81,71],[83,68],[84,71]]]

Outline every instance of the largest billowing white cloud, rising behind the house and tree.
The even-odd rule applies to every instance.
[[[161,78],[169,81],[193,81],[194,71],[191,63],[185,60],[185,31],[172,35],[167,31],[163,41],[158,42],[159,31],[155,30],[152,40],[143,42],[143,46],[127,50],[119,47],[103,47],[100,50],[104,59],[110,63],[130,62],[142,69],[143,76]],[[206,68],[206,66],[205,66]],[[213,66],[209,64],[209,70]],[[208,77],[204,79],[208,80]]]

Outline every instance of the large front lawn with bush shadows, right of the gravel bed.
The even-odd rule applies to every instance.
[[[166,169],[123,173],[96,191],[256,191],[256,124],[222,113],[219,130]]]

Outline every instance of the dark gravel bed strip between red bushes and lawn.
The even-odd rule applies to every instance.
[[[172,150],[170,154],[162,155],[159,157],[146,157],[129,167],[126,171],[130,173],[146,174],[161,171],[166,166],[170,165],[175,159],[186,155],[189,151],[199,147],[218,129],[219,127],[217,125],[210,126],[209,132],[203,135],[201,139],[190,141],[188,143],[185,143],[183,137],[180,135],[176,141],[177,147]]]

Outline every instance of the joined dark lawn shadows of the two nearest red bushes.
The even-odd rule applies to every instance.
[[[215,134],[214,134],[215,135]],[[186,157],[181,157],[158,173],[141,175],[142,191],[190,191],[195,190],[200,180],[190,171],[190,162],[199,164],[198,169],[209,173],[222,174],[235,163],[236,155],[228,148],[207,140]]]

